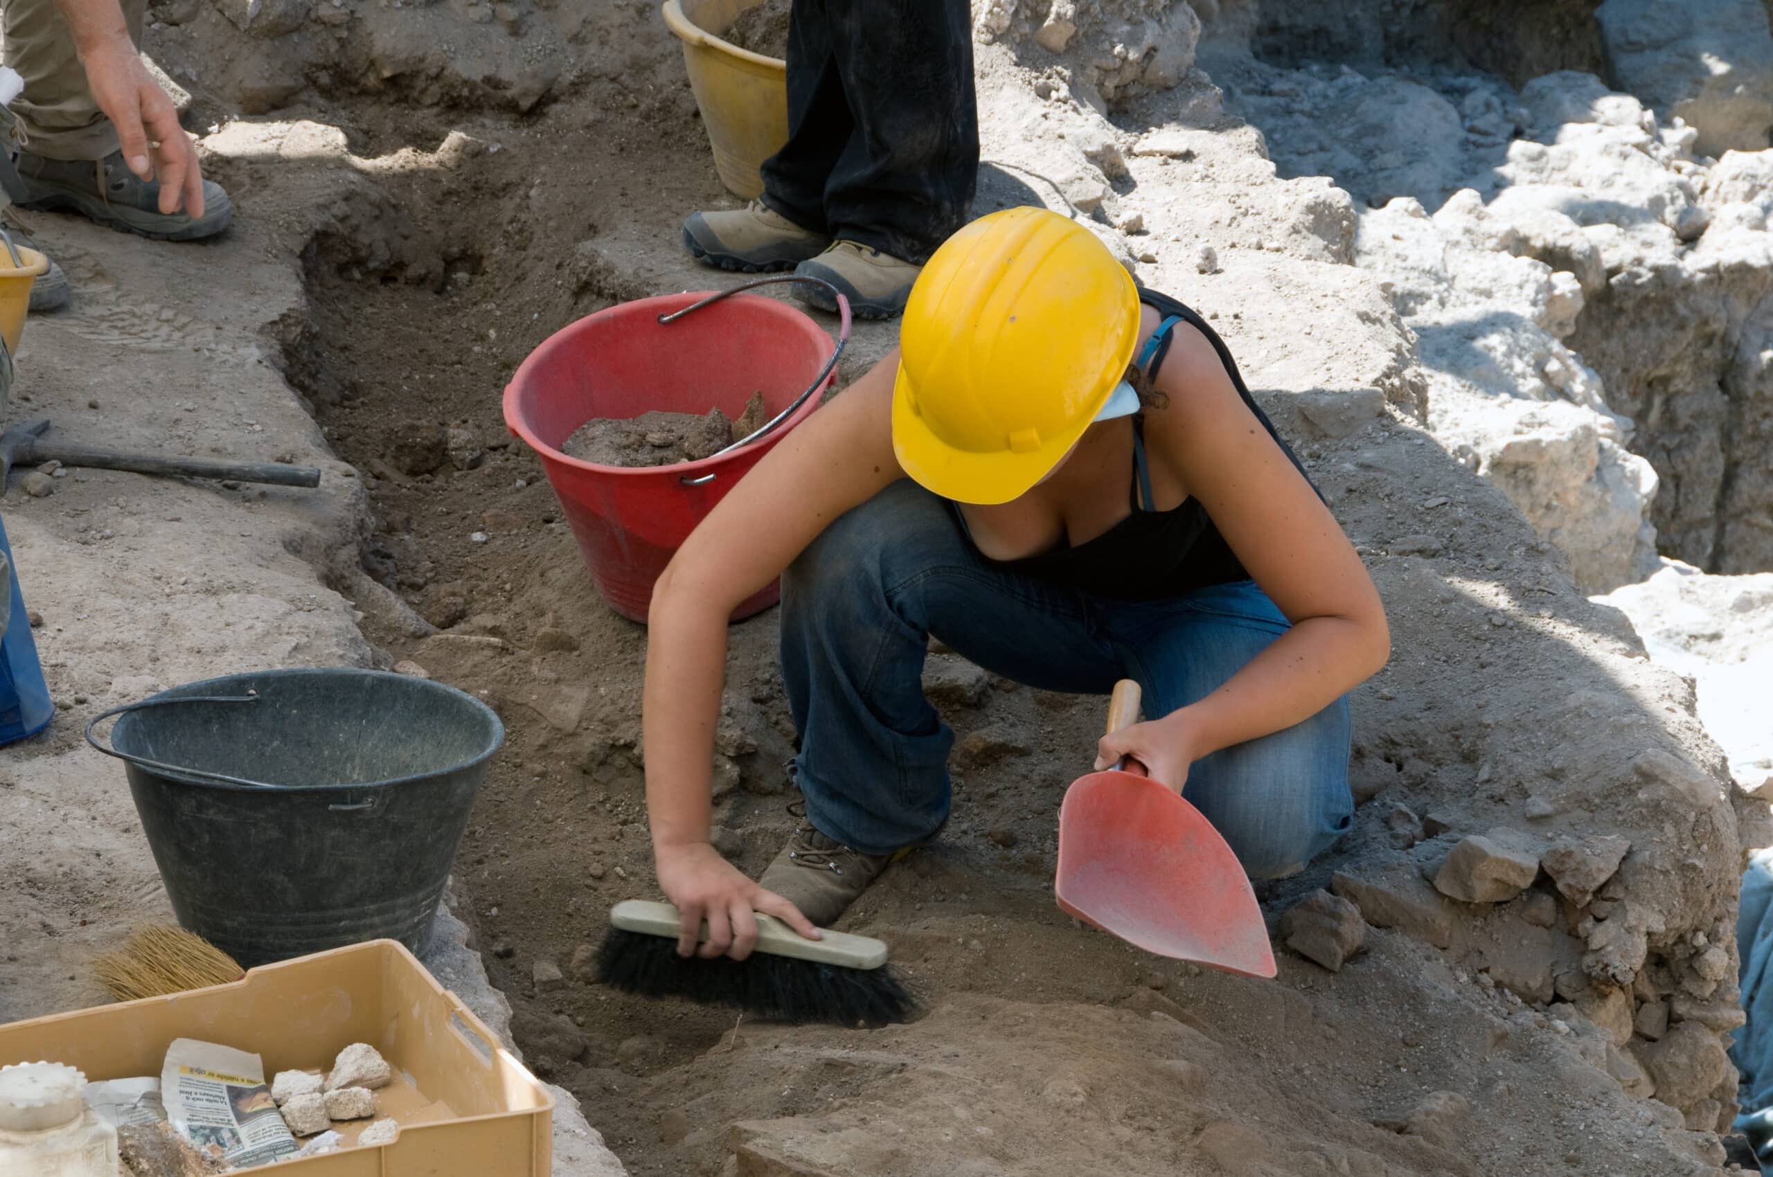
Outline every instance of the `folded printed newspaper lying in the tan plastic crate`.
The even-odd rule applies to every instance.
[[[199,1149],[220,1147],[234,1168],[269,1165],[296,1152],[296,1138],[277,1111],[257,1055],[176,1039],[167,1048],[160,1094],[172,1127]]]

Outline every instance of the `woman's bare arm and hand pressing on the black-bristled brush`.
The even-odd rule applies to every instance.
[[[647,814],[660,886],[684,916],[679,952],[750,954],[752,911],[812,925],[709,844],[711,762],[727,663],[727,619],[840,514],[902,477],[892,454],[899,353],[782,440],[684,541],[652,588],[642,713]]]

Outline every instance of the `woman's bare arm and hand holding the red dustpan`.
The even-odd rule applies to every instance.
[[[1147,433],[1293,629],[1206,698],[1103,741],[1105,759],[1163,760],[1163,773],[1145,762],[1170,787],[1190,760],[1310,718],[1390,656],[1385,606],[1335,516],[1245,406],[1211,344],[1193,328],[1177,328],[1175,342],[1160,370],[1170,406],[1151,413]]]

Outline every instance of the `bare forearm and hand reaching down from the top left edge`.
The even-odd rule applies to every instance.
[[[179,126],[172,99],[142,64],[122,7],[117,0],[57,0],[57,5],[73,32],[92,97],[117,128],[124,163],[144,181],[160,179],[161,213],[176,213],[183,204],[191,216],[202,216],[197,149]]]

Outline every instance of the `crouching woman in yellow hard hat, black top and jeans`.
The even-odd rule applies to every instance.
[[[711,760],[727,617],[775,576],[805,812],[752,881],[709,844]],[[1349,828],[1346,695],[1388,656],[1378,592],[1213,328],[1043,209],[950,238],[901,351],[784,438],[654,588],[647,808],[679,952],[743,959],[755,911],[817,936],[941,828],[929,636],[1048,691],[1138,681],[1152,718],[1097,766],[1133,755],[1186,791],[1254,877]]]

